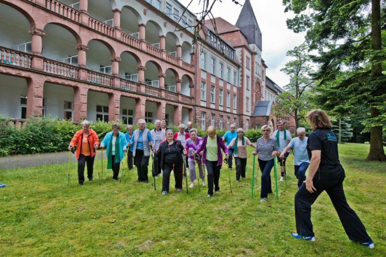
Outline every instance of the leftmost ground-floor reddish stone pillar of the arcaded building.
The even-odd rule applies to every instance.
[[[44,81],[43,76],[27,79],[27,118],[42,116]]]

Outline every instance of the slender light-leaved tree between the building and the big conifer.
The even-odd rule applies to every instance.
[[[309,110],[307,91],[313,84],[309,76],[312,68],[307,50],[307,45],[302,44],[287,52],[287,56],[294,59],[287,62],[281,71],[289,76],[289,83],[284,87],[286,92],[276,97],[278,104],[274,106],[276,115],[291,113],[289,115],[294,117],[296,129],[299,127],[299,121],[304,119],[305,111]]]

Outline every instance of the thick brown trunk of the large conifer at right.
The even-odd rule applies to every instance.
[[[380,37],[380,0],[371,0],[371,43],[372,50],[381,49]],[[382,64],[371,63],[371,79],[374,81],[377,77],[382,76]],[[370,103],[371,118],[380,115],[379,110]],[[370,129],[370,152],[366,161],[386,161],[382,146],[382,126],[373,126]]]

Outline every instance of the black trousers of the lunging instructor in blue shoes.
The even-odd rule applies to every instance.
[[[295,195],[295,221],[298,234],[314,236],[311,222],[311,205],[323,191],[326,191],[338,213],[348,238],[359,243],[371,241],[358,215],[350,208],[346,201],[343,191],[343,180],[344,178],[338,180],[319,180],[314,178],[313,182],[316,188],[314,193],[308,192],[306,184],[302,184]]]

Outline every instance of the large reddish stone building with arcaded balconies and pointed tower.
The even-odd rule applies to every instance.
[[[248,0],[235,26],[217,18],[218,38],[206,23],[195,45],[197,17],[174,0],[0,0],[0,15],[2,116],[274,122],[255,112],[281,89],[265,75]]]

